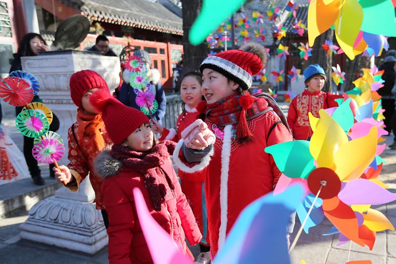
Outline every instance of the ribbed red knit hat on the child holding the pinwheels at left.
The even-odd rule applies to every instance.
[[[73,73],[70,77],[69,86],[71,100],[78,107],[81,107],[81,99],[88,90],[105,88],[108,91],[108,86],[104,79],[93,70],[82,70]]]

